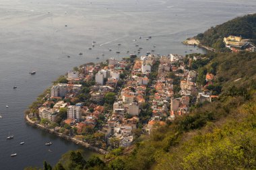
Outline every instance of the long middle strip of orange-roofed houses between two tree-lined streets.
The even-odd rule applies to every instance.
[[[131,74],[113,104],[113,114],[102,128],[108,140],[115,138],[119,146],[129,146],[133,142],[133,130],[139,122],[141,105],[146,102],[144,96],[155,61],[152,55],[141,56],[134,61]]]

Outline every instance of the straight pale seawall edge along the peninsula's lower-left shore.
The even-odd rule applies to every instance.
[[[105,151],[104,149],[102,148],[97,148],[95,146],[91,146],[90,144],[88,144],[87,142],[83,142],[82,140],[77,140],[76,138],[71,138],[70,136],[67,136],[65,134],[62,134],[62,133],[59,133],[59,132],[56,132],[55,130],[53,129],[49,129],[49,128],[46,128],[40,124],[36,124],[36,122],[33,122],[29,117],[28,115],[25,116],[25,120],[26,120],[26,123],[29,124],[30,126],[34,126],[36,128],[39,128],[41,130],[45,130],[46,132],[49,132],[51,134],[55,134],[56,136],[59,136],[60,138],[63,138],[65,140],[69,140],[75,144],[79,144],[80,146],[83,146],[85,148],[88,148],[92,151],[95,151],[96,153],[100,153],[102,155],[106,155],[108,153],[108,151]]]

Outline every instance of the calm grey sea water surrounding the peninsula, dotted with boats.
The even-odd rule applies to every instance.
[[[0,169],[54,164],[79,148],[24,121],[24,110],[59,75],[86,62],[129,56],[135,44],[141,54],[153,46],[155,54],[203,52],[181,42],[255,9],[255,1],[236,0],[0,0]],[[32,70],[36,75],[28,74]],[[13,140],[6,140],[9,133]],[[53,153],[44,146],[49,140]]]

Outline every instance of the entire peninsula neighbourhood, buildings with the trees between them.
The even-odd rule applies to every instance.
[[[218,97],[207,89],[214,75],[190,69],[199,56],[140,56],[75,67],[31,107],[29,118],[45,128],[111,150],[189,114],[191,105]]]

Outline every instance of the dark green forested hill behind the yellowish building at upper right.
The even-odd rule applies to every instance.
[[[203,34],[198,34],[195,38],[200,41],[202,45],[210,46],[212,48],[224,48],[223,38],[226,36],[242,36],[245,39],[253,39],[256,42],[256,13],[245,15],[243,17],[236,17],[224,24],[210,28]]]

